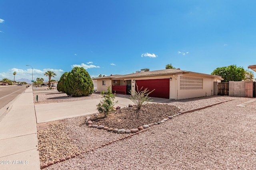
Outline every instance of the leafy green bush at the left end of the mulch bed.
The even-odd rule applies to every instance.
[[[97,109],[100,113],[104,114],[104,117],[114,109],[114,105],[117,102],[114,102],[115,95],[111,93],[110,86],[108,86],[108,92],[105,94],[104,91],[101,92],[102,101],[97,105]]]

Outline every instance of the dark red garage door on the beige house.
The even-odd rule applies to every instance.
[[[143,86],[148,88],[148,92],[154,90],[154,92],[150,93],[148,96],[155,97],[155,98],[166,98],[169,99],[169,91],[170,91],[170,79],[151,79],[151,80],[136,80],[136,84],[138,89]],[[137,90],[137,89],[136,89]]]

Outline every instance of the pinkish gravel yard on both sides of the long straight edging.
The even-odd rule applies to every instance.
[[[185,113],[131,138],[48,166],[50,170],[186,170],[256,168],[256,104],[238,107],[252,98],[215,96],[170,102],[184,110],[224,102]],[[80,121],[79,121],[80,119]],[[81,129],[81,118],[66,119],[65,131],[86,150],[120,135],[94,128]],[[74,128],[76,129],[74,130]],[[91,146],[90,146],[91,145]]]

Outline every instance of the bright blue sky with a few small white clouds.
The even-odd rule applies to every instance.
[[[1,0],[0,80],[256,64],[256,1]],[[31,66],[26,66],[26,64]],[[256,74],[254,73],[255,77]]]

